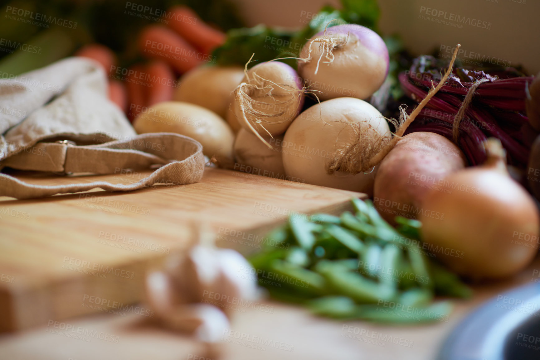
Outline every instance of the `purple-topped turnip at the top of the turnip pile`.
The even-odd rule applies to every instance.
[[[366,99],[388,74],[388,49],[373,30],[336,25],[317,33],[300,52],[298,72],[321,100],[350,96]]]

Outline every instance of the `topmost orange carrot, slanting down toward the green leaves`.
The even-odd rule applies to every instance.
[[[168,26],[207,55],[225,43],[225,33],[205,24],[186,6],[173,6],[164,15]]]

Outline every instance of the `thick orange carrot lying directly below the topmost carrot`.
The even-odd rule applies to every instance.
[[[180,73],[208,60],[176,32],[160,25],[149,25],[141,31],[139,50],[146,57],[164,60]]]

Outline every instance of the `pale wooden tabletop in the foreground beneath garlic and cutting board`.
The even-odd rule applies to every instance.
[[[263,301],[272,311],[258,307],[232,311],[231,329],[224,331],[219,344],[221,356],[215,356],[193,338],[159,328],[148,316],[119,311],[0,336],[0,359],[434,360],[450,332],[478,305],[536,281],[533,270],[540,268],[538,260],[514,279],[475,286],[471,300],[455,302],[448,322],[392,326],[334,321],[300,307]]]

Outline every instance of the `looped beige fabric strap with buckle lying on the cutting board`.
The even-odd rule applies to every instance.
[[[2,161],[2,166],[65,174],[112,174],[119,169],[147,169],[152,165],[163,166],[146,178],[129,185],[95,181],[44,186],[29,184],[0,173],[0,196],[29,199],[88,191],[93,188],[131,191],[157,183],[193,184],[203,177],[203,146],[198,141],[179,134],[149,133],[126,141],[110,141],[100,145],[77,146],[67,141],[41,142],[31,151],[23,151]]]

